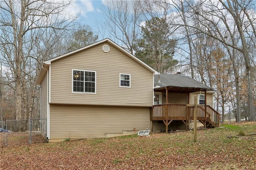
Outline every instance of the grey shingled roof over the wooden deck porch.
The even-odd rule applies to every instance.
[[[192,79],[191,77],[185,75],[168,75],[160,74],[154,76],[155,91],[161,91],[168,88],[169,90],[179,91],[179,92],[196,92],[196,91],[213,91],[214,89]]]

